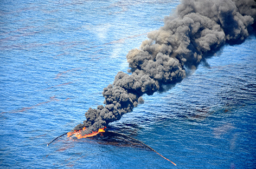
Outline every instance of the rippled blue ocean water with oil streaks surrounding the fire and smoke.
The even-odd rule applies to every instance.
[[[126,54],[179,1],[2,1],[0,168],[256,168],[256,38],[226,45],[111,123],[121,138],[55,137],[102,105]]]

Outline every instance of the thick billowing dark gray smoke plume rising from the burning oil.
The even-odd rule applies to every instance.
[[[143,94],[163,91],[180,82],[185,67],[196,69],[202,59],[213,55],[225,43],[238,44],[253,31],[254,0],[184,0],[164,26],[148,34],[139,49],[126,56],[132,73],[118,72],[113,84],[104,88],[105,107],[89,109],[82,136],[119,120],[124,113],[144,103]]]

